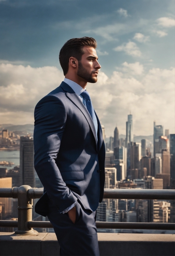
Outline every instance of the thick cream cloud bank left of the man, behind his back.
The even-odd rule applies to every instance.
[[[61,81],[63,73],[56,67],[0,64],[1,112],[33,112],[37,102]]]

